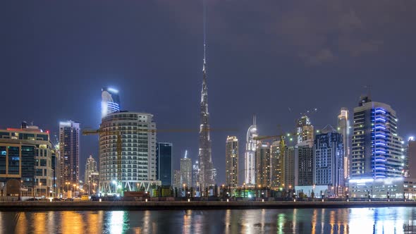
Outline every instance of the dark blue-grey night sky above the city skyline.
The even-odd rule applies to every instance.
[[[336,127],[371,85],[373,101],[397,111],[400,135],[416,133],[416,1],[206,1],[211,127],[238,129],[212,133],[218,183],[227,135],[240,140],[243,178],[253,113],[261,135],[293,130],[314,108],[315,128]],[[153,113],[157,128],[197,130],[202,21],[202,0],[1,1],[0,128],[97,128],[110,86],[122,109]],[[175,168],[185,149],[197,159],[197,131],[157,137],[173,142]],[[82,136],[80,175],[97,153],[97,137]]]

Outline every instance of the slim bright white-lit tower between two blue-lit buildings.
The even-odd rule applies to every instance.
[[[344,178],[350,176],[350,121],[348,116],[348,109],[341,108],[341,113],[338,116],[338,133],[343,136],[343,165]]]

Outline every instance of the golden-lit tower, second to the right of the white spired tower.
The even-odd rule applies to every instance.
[[[283,157],[285,154],[285,141],[283,137],[281,140],[274,141],[270,146],[270,177],[271,187],[279,188],[283,186]]]

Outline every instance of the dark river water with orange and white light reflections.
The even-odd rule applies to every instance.
[[[0,212],[0,233],[416,233],[416,208]]]

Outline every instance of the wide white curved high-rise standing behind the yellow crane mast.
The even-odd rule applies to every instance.
[[[99,178],[102,193],[149,189],[156,176],[156,123],[150,113],[121,111],[102,119]],[[121,181],[118,181],[117,133],[121,131]]]

